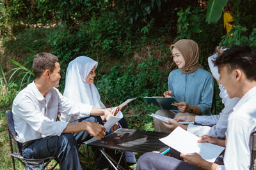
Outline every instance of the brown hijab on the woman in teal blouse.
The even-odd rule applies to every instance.
[[[185,66],[180,69],[183,73],[193,73],[198,67],[202,67],[198,63],[199,48],[195,41],[191,39],[180,39],[170,46],[171,52],[173,47],[177,48],[184,57]]]

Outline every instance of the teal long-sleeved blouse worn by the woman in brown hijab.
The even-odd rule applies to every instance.
[[[202,115],[211,115],[214,82],[208,71],[198,68],[185,74],[175,69],[169,74],[168,88],[177,101],[199,106]]]

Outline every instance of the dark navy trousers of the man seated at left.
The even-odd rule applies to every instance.
[[[103,124],[100,117],[81,118],[74,122],[95,122]],[[29,159],[42,159],[54,156],[60,160],[61,170],[82,169],[79,161],[77,145],[92,138],[87,131],[61,136],[48,136],[29,142],[22,147],[22,156]]]

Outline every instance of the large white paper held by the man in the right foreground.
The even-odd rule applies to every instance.
[[[211,143],[198,143],[201,139],[195,134],[185,131],[181,127],[177,127],[168,136],[159,139],[171,148],[180,153],[198,153],[203,159],[214,162],[220,153],[225,149],[224,147],[213,145]]]

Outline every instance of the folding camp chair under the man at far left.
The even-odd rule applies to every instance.
[[[14,158],[19,160],[19,162],[24,167],[26,167],[26,169],[45,169],[45,167],[47,167],[47,165],[51,162],[51,160],[56,160],[57,161],[56,164],[52,167],[52,169],[54,169],[59,163],[56,157],[47,157],[44,159],[26,159],[22,157],[22,152],[21,152],[22,144],[16,140],[17,137],[16,137],[15,128],[14,128],[12,111],[7,110],[6,116],[7,116],[7,123],[8,123],[10,146],[11,146],[10,155],[12,156],[13,169],[15,169]],[[17,152],[13,152],[12,139],[16,143]]]

